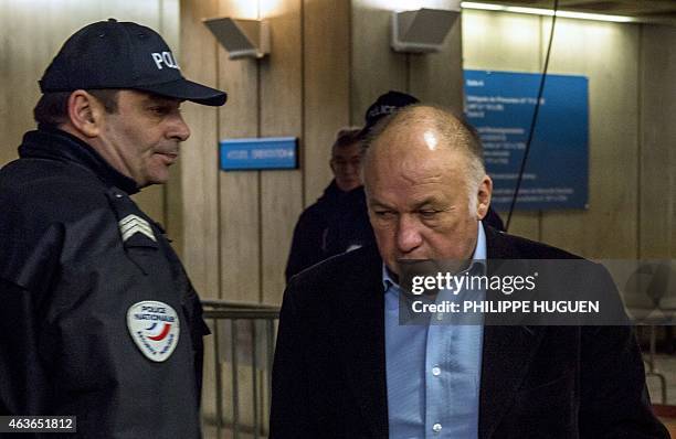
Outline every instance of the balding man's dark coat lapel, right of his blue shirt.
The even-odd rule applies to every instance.
[[[488,259],[516,259],[508,237],[486,227]],[[488,274],[490,276],[490,274]],[[490,292],[489,292],[490,295]],[[488,299],[493,299],[490,296]],[[542,338],[542,326],[484,328],[479,393],[479,439],[490,438],[528,371]]]

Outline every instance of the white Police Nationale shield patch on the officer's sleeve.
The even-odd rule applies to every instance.
[[[178,314],[163,302],[134,303],[127,311],[127,328],[140,352],[154,362],[169,358],[178,344]]]

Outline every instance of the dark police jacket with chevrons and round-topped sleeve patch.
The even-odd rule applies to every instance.
[[[19,153],[0,170],[0,414],[74,415],[67,437],[200,437],[208,329],[136,183],[61,130]]]

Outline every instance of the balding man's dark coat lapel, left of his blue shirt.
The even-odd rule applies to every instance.
[[[353,393],[374,438],[388,437],[388,394],[385,384],[384,292],[382,261],[370,253],[363,270],[349,274],[349,286],[337,302],[338,345],[349,389]]]

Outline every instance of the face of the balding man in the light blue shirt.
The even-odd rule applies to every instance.
[[[392,128],[368,153],[369,216],[380,254],[395,274],[401,259],[469,259],[474,253],[490,180],[476,190],[466,153],[441,141],[433,129]]]

